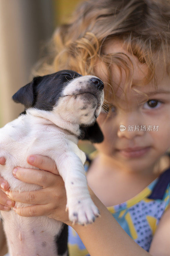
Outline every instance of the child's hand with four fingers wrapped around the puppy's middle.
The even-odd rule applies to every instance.
[[[15,172],[16,168],[13,171],[14,177],[26,183],[38,184],[42,186],[42,189],[21,193],[6,191],[6,194],[12,200],[34,204],[32,206],[14,208],[14,210],[21,216],[46,215],[49,218],[61,220],[71,225],[68,213],[65,212],[66,192],[64,182],[57,171],[55,162],[46,156],[39,155],[28,157],[27,162],[41,170],[17,167],[17,171]]]

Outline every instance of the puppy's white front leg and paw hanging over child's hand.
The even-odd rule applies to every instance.
[[[90,197],[80,158],[73,152],[63,153],[56,165],[65,183],[69,219],[82,225],[92,223],[100,213]]]

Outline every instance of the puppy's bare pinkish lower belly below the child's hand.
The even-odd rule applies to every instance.
[[[21,217],[13,210],[1,211],[10,256],[56,256],[57,237],[63,223],[46,216]],[[65,245],[66,248],[66,243]],[[60,254],[61,255],[61,254]],[[63,256],[67,251],[63,251]]]

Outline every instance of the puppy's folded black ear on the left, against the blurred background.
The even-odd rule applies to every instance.
[[[18,92],[16,92],[12,96],[12,100],[17,103],[21,103],[25,106],[25,108],[30,108],[33,106],[35,101],[35,86],[40,83],[42,80],[42,76],[34,77],[33,81],[25,86],[21,87]]]

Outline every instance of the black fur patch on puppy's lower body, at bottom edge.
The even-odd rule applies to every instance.
[[[58,255],[63,255],[67,251],[68,254],[68,248],[67,248],[67,241],[68,240],[68,226],[66,224],[63,224],[62,231],[59,235],[55,236],[55,243],[57,245],[57,253]]]

